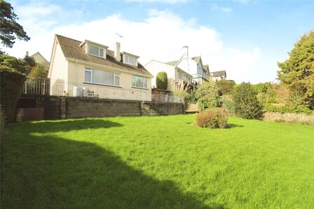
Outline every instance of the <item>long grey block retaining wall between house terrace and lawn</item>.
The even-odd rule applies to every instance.
[[[23,95],[18,108],[32,104],[43,108],[44,119],[78,119],[105,116],[156,116],[184,114],[184,104],[167,102],[141,102],[134,100],[108,100],[48,95]],[[31,106],[32,106],[31,105]],[[24,111],[27,111],[25,108]]]

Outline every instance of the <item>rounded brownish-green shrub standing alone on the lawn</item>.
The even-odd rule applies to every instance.
[[[227,121],[226,109],[213,108],[196,114],[194,123],[201,128],[226,128]]]

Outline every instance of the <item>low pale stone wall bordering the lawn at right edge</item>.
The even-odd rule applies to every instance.
[[[264,111],[266,112],[278,112],[278,113],[304,113],[313,114],[314,110],[308,109],[306,106],[275,106],[273,104],[265,104]]]

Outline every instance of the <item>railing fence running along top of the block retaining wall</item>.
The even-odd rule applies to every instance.
[[[125,90],[121,87],[90,83],[66,82],[62,80],[28,78],[23,93],[57,95],[68,97],[97,97],[116,100],[139,100],[155,102],[184,103],[184,97],[175,95],[156,95],[150,90]]]

